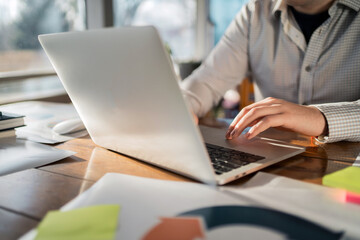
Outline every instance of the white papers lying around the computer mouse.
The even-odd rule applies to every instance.
[[[69,135],[59,135],[52,131],[52,127],[59,122],[79,118],[70,103],[29,101],[3,105],[0,110],[25,115],[26,126],[16,129],[17,138],[54,144],[87,135],[86,130]]]

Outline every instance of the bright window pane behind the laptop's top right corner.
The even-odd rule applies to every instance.
[[[115,26],[154,25],[175,60],[193,58],[196,0],[114,0]]]

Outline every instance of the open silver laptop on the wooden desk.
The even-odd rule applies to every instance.
[[[304,151],[260,137],[226,140],[223,129],[199,128],[152,26],[47,34],[39,40],[99,146],[218,185]]]

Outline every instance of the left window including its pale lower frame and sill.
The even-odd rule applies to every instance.
[[[38,35],[83,29],[84,0],[0,0],[0,104],[65,95]]]

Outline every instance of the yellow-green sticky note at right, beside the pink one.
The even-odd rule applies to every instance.
[[[323,177],[323,184],[329,187],[343,188],[360,193],[360,168],[347,167]]]

